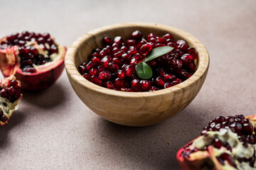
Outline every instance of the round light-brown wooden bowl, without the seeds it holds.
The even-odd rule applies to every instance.
[[[134,30],[141,30],[143,35],[171,33],[175,40],[185,40],[198,52],[196,72],[181,84],[151,92],[114,91],[81,76],[78,66],[88,60],[95,47],[103,47],[102,38],[121,35],[125,40]],[[92,30],[75,40],[65,55],[68,79],[82,102],[102,118],[129,126],[153,125],[182,111],[201,89],[208,67],[208,52],[199,40],[183,30],[154,23],[120,23]]]

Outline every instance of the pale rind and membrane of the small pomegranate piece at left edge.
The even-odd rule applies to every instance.
[[[0,85],[2,87],[7,86],[6,84],[12,79],[16,79],[16,77],[14,77],[14,75],[11,75],[10,77],[6,77],[6,79],[0,80]],[[20,81],[18,81],[18,86],[21,86]],[[14,103],[11,103],[7,98],[3,98],[0,96],[0,103],[1,103],[0,109],[4,112],[4,115],[7,117],[6,122],[2,122],[0,120],[0,126],[6,125],[8,123],[8,120],[11,118],[12,113],[14,113],[14,111],[18,109],[18,104],[20,103],[21,98],[22,98],[22,94],[16,101],[14,101]],[[2,103],[6,103],[6,106],[3,106]]]

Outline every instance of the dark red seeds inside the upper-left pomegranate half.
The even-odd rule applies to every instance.
[[[37,47],[34,47],[35,42],[47,55],[39,54]],[[20,67],[23,72],[36,72],[33,64],[41,65],[50,62],[50,55],[58,53],[58,45],[50,38],[49,33],[14,33],[7,36],[5,41],[1,41],[0,49],[4,50],[7,47],[18,46],[20,57]]]

